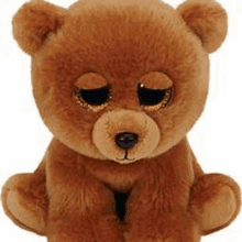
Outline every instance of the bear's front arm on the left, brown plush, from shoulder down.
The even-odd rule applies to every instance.
[[[79,154],[54,141],[46,165],[50,242],[118,242],[113,195],[87,172]]]

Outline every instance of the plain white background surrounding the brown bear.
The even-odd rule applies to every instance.
[[[12,15],[24,0],[0,2],[0,187],[13,174],[33,172],[52,138],[36,110],[30,81],[30,56],[12,38]],[[67,8],[70,0],[51,0]],[[166,0],[173,7],[182,0]],[[191,147],[207,173],[223,173],[242,187],[242,1],[220,0],[229,14],[229,35],[210,55],[211,80],[207,108],[189,132]],[[44,242],[20,229],[0,206],[0,241]],[[242,213],[227,229],[202,242],[241,242]]]

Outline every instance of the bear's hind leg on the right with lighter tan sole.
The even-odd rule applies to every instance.
[[[226,175],[204,175],[191,188],[190,209],[198,218],[204,235],[229,226],[240,207],[240,188]]]

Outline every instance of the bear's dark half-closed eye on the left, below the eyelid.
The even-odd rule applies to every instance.
[[[79,89],[76,90],[79,99],[82,99],[90,106],[101,106],[110,99],[110,87],[106,86],[97,89]]]

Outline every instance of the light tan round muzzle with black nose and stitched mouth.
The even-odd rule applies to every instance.
[[[160,142],[160,128],[144,112],[109,111],[95,123],[92,141],[108,160],[133,163],[151,155]]]

